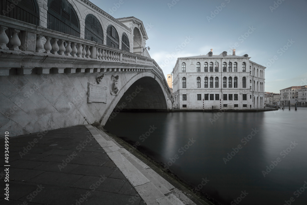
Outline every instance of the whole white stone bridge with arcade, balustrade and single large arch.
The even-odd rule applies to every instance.
[[[1,133],[104,126],[113,111],[111,118],[122,109],[172,109],[142,21],[115,19],[85,0],[30,1],[25,8],[4,0],[0,8],[8,12],[0,15]],[[33,16],[14,15],[21,9]]]

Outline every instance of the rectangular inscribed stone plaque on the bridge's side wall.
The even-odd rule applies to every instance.
[[[88,83],[87,103],[107,103],[107,87],[100,87]]]

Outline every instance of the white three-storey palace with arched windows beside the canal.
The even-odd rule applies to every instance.
[[[264,106],[264,70],[236,56],[235,49],[213,55],[180,57],[173,69],[174,107],[177,109],[256,109]]]

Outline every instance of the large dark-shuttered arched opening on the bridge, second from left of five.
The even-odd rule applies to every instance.
[[[67,0],[49,0],[47,28],[80,37],[78,16]]]

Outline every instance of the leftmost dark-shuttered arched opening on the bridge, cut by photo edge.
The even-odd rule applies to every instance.
[[[0,15],[39,26],[40,14],[36,0],[1,0],[0,11]]]

